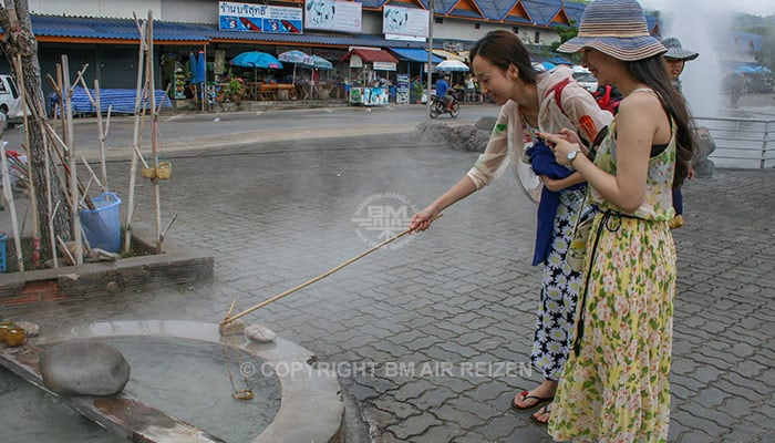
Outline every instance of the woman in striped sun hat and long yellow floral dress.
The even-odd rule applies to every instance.
[[[664,45],[634,0],[596,0],[578,35],[559,48],[581,52],[603,84],[624,95],[590,159],[572,133],[545,134],[599,207],[587,241],[574,351],[549,421],[558,441],[666,442],[670,423],[675,246],[671,188],[694,150],[690,116],[668,76]]]

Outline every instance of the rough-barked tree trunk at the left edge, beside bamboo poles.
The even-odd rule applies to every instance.
[[[62,199],[62,187],[55,178],[54,159],[49,163],[49,171],[45,169],[45,151],[43,144],[43,123],[45,123],[45,111],[43,106],[43,89],[41,86],[40,62],[38,61],[38,41],[32,33],[30,22],[30,9],[27,0],[4,0],[4,6],[0,7],[0,27],[4,31],[4,37],[0,47],[8,56],[11,66],[14,65],[17,55],[21,58],[21,72],[16,72],[17,79],[24,83],[24,95],[31,115],[27,120],[27,134],[29,134],[29,146],[27,146],[28,162],[32,171],[30,181],[34,188],[34,199],[37,202],[37,215],[40,220],[39,233],[41,236],[42,257],[51,257],[51,233],[48,228],[50,208],[48,205],[46,175],[51,177],[49,187],[51,192],[52,206]],[[72,238],[70,216],[64,204],[53,217],[53,231],[55,237],[63,240]]]

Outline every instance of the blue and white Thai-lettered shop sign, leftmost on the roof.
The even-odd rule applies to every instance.
[[[302,33],[302,9],[269,4],[218,2],[218,24],[221,31]]]

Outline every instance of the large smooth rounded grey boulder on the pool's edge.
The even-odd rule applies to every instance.
[[[64,395],[115,395],[130,381],[130,363],[115,348],[92,340],[69,340],[43,350],[43,384]]]

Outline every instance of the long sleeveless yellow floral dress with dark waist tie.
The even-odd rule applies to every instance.
[[[612,134],[616,121],[595,163],[616,174]],[[558,441],[668,441],[676,275],[668,220],[674,165],[673,130],[668,147],[649,161],[644,203],[633,214],[620,213],[590,188],[590,200],[601,210],[587,243],[576,349],[549,422]]]

